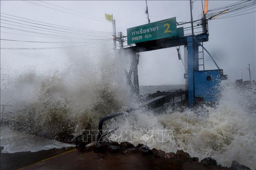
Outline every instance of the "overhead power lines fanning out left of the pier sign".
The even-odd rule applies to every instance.
[[[50,8],[59,12],[65,12],[70,15],[76,15],[84,18],[89,18],[92,20],[97,21],[105,21],[105,18],[97,17],[94,15],[78,12],[75,10],[71,10],[64,7],[59,7],[57,5],[44,2],[44,1],[38,1],[42,3],[46,3],[58,8],[63,8],[65,10],[70,10],[72,12],[80,13],[70,13],[66,12],[64,10],[58,10],[56,8],[40,5],[38,3],[29,2],[29,1],[23,1],[28,3],[33,3],[35,5],[39,5],[41,7]],[[89,15],[91,17],[85,17],[85,15]],[[95,18],[99,19],[95,19]],[[100,20],[104,19],[104,20]],[[105,41],[112,40],[111,35],[112,32],[108,31],[94,31],[94,30],[86,30],[86,29],[80,29],[80,28],[74,28],[69,26],[63,26],[63,25],[56,25],[52,23],[46,23],[38,20],[32,20],[29,18],[23,18],[18,17],[15,15],[10,15],[7,13],[2,13],[0,15],[0,23],[1,23],[1,41],[12,41],[12,42],[23,42],[23,43],[45,43],[45,44],[82,44],[78,46],[86,46],[86,45],[93,45],[97,43],[102,43]],[[32,37],[40,37],[40,38],[51,38],[51,39],[61,39],[62,41],[32,41],[32,40],[20,40],[20,39],[8,39],[3,38],[2,36],[8,36],[8,35],[21,35],[28,38]],[[56,48],[66,48],[66,47],[77,47],[77,46],[57,46],[57,47],[45,47],[45,48],[1,48],[5,50],[41,50],[41,49],[56,49]]]

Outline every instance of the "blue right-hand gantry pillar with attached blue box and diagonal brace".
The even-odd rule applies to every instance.
[[[188,104],[190,107],[194,105],[196,98],[200,98],[204,102],[215,103],[218,101],[221,93],[221,80],[227,79],[211,54],[200,44],[200,42],[203,42],[201,38],[205,39],[204,36],[198,38],[194,36],[187,37]],[[218,69],[199,71],[198,46],[202,46],[209,54]]]

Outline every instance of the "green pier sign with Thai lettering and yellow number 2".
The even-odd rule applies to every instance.
[[[182,30],[183,31],[183,30]],[[176,17],[127,29],[127,44],[177,36]],[[183,33],[184,36],[184,33]]]

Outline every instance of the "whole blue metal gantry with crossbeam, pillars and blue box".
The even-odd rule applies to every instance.
[[[131,50],[134,55],[136,55],[143,51],[158,50],[182,45],[187,46],[187,74],[184,75],[184,78],[188,79],[187,99],[189,107],[192,107],[198,101],[211,103],[218,101],[218,97],[221,92],[220,82],[222,79],[227,78],[226,75],[223,75],[223,70],[219,68],[211,54],[209,54],[209,52],[201,45],[201,43],[205,41],[208,41],[208,34],[201,33],[199,35],[146,41],[143,43],[137,43],[136,46],[125,49]],[[202,46],[202,48],[209,54],[218,69],[199,71],[199,46]],[[134,82],[137,84],[137,92],[139,92],[138,77],[135,77],[137,79],[134,79]]]

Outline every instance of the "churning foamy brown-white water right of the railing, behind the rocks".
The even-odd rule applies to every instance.
[[[107,129],[120,126],[132,129],[132,137],[134,134],[142,136],[142,130],[172,130],[175,142],[144,142],[139,138],[132,141],[135,145],[142,143],[165,152],[181,149],[192,157],[199,157],[199,160],[212,157],[223,166],[230,167],[236,160],[254,169],[256,87],[246,90],[236,89],[232,84],[222,84],[222,87],[221,100],[214,109],[204,106],[198,108],[196,114],[190,109],[184,112],[169,109],[157,115],[139,110],[131,116],[110,122]]]

